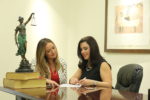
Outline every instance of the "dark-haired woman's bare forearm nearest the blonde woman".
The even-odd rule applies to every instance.
[[[79,82],[79,78],[81,77],[82,70],[78,68],[78,70],[74,73],[74,75],[70,78],[70,84],[77,84]]]

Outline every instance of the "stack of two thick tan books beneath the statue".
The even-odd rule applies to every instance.
[[[3,86],[13,89],[46,87],[46,79],[41,79],[39,76],[38,72],[7,72]]]

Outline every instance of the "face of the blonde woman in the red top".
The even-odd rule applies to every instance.
[[[55,59],[57,57],[57,49],[55,45],[51,42],[47,43],[45,46],[45,55],[47,59]]]

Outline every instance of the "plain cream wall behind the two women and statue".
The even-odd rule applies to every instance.
[[[20,57],[16,57],[14,29],[18,16],[26,20],[35,12],[36,27],[27,25],[29,61],[35,58],[35,49],[39,39],[51,38],[57,45],[60,57],[68,64],[68,78],[77,69],[77,45],[87,35],[96,38],[101,54],[112,65],[113,86],[119,67],[128,63],[138,63],[144,68],[144,77],[140,92],[147,94],[150,87],[150,54],[124,54],[104,52],[105,0],[0,0],[0,85],[6,72],[19,66]],[[1,95],[0,95],[1,97]],[[6,99],[7,100],[7,99]]]

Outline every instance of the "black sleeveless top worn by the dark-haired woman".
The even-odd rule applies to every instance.
[[[98,63],[96,66],[92,67],[91,69],[87,69],[87,66],[84,67],[82,70],[82,75],[80,79],[87,78],[87,79],[92,79],[92,80],[97,80],[97,81],[102,81],[100,77],[100,65],[102,62]]]

